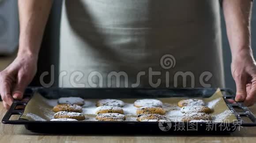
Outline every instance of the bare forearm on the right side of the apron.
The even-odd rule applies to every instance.
[[[232,58],[246,52],[252,55],[252,0],[223,0],[222,6]]]

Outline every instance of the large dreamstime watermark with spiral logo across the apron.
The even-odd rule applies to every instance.
[[[166,70],[167,72],[159,72],[159,71],[154,71],[152,67],[148,68],[148,71],[140,71],[137,73],[136,75],[136,82],[131,84],[131,87],[136,88],[139,87],[139,85],[141,84],[141,78],[143,76],[146,76],[146,72],[147,72],[147,76],[148,77],[148,83],[151,87],[157,88],[161,85],[162,83],[162,79],[158,78],[156,80],[156,82],[153,82],[153,79],[156,76],[165,76],[165,81],[164,83],[166,84],[165,86],[168,88],[170,87],[170,78],[172,78],[173,80],[173,87],[178,87],[178,82],[182,83],[183,87],[188,87],[188,85],[190,85],[190,87],[195,87],[195,83],[196,83],[196,79],[195,79],[195,75],[193,72],[187,71],[187,72],[175,72],[174,74],[170,74],[170,72],[168,70],[171,70],[171,68],[174,68],[176,65],[176,59],[173,55],[170,54],[166,54],[164,56],[161,57],[160,59],[160,65],[161,67]],[[55,79],[55,74],[54,74],[54,65],[51,65],[51,71],[49,72],[43,72],[40,76],[40,83],[42,86],[44,87],[50,87],[53,85],[54,83],[54,79]],[[198,73],[197,73],[198,74]],[[64,78],[67,78],[66,76],[68,76],[68,82],[70,85],[72,85],[73,87],[86,87],[86,83],[87,85],[89,85],[90,87],[103,87],[103,83],[106,83],[107,87],[120,87],[120,85],[124,85],[124,87],[128,87],[129,86],[129,76],[127,74],[127,72],[121,71],[121,72],[116,72],[116,71],[112,71],[109,72],[107,75],[102,74],[100,71],[92,71],[89,74],[84,74],[84,72],[82,71],[73,71],[71,73],[68,73],[67,71],[61,71],[59,73],[59,83],[60,86],[61,84],[63,84],[64,82]],[[171,77],[171,75],[173,75]],[[50,76],[51,80],[49,83],[45,83],[44,78],[45,76]],[[211,84],[208,84],[206,82],[208,82],[211,78],[212,78],[212,73],[211,72],[202,72],[199,76],[199,83],[202,87],[211,87]],[[81,82],[81,80],[86,79],[86,81]],[[95,82],[95,79],[98,79],[98,82]],[[116,79],[115,82],[113,83],[114,80],[112,79]],[[181,79],[181,80],[179,80]],[[189,79],[189,80],[188,80]],[[65,80],[66,82],[66,80]],[[190,82],[190,83],[188,83]],[[115,85],[113,85],[115,84]]]

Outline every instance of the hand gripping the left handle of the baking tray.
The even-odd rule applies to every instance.
[[[0,94],[6,109],[10,108],[13,99],[23,99],[26,86],[36,74],[37,61],[37,56],[18,54],[15,60],[0,72]]]

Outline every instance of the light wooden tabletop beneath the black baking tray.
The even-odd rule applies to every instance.
[[[256,106],[250,107],[256,113]],[[4,117],[6,110],[0,102],[0,119]],[[5,125],[0,123],[0,143],[255,143],[256,127],[244,127],[229,135],[203,135],[203,136],[100,136],[100,135],[45,135],[33,133],[25,129],[23,125]]]

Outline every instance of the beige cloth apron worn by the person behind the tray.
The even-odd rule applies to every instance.
[[[65,0],[59,86],[223,87],[219,9],[218,0]]]

